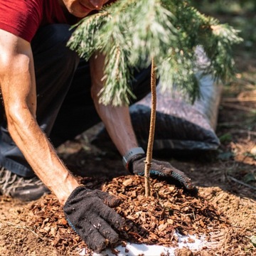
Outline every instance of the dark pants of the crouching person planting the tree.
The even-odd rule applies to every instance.
[[[36,72],[38,124],[54,146],[73,139],[100,122],[90,95],[90,68],[66,47],[69,26],[41,28],[31,42]],[[134,75],[132,88],[137,100],[150,90],[150,69]],[[1,106],[0,166],[20,176],[34,176],[23,154],[6,129]]]

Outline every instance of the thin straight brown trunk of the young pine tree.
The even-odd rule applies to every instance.
[[[146,197],[150,196],[151,194],[149,170],[151,167],[152,154],[153,154],[155,124],[156,124],[156,68],[154,64],[154,58],[152,58],[152,61],[151,61],[151,117],[150,117],[150,127],[149,127],[149,141],[146,149],[146,161],[145,161],[145,169],[144,169]]]

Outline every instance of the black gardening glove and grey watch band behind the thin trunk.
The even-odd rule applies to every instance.
[[[123,157],[124,166],[132,174],[137,174],[144,176],[145,169],[145,153],[142,148],[134,148],[127,152]],[[169,178],[174,179],[181,183],[188,191],[196,192],[196,187],[192,184],[191,179],[178,169],[171,166],[169,162],[157,161],[152,159],[151,168],[149,170],[150,176],[155,178],[164,178],[168,180]]]

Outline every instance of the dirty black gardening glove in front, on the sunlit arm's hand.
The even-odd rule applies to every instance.
[[[70,194],[63,208],[70,226],[90,249],[99,253],[110,243],[117,242],[114,229],[124,226],[124,219],[112,208],[121,201],[109,193],[79,186]]]

